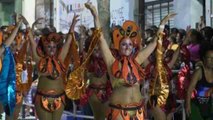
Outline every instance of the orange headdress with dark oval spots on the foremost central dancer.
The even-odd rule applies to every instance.
[[[141,44],[141,35],[139,34],[139,27],[135,22],[127,20],[122,27],[116,27],[113,30],[113,44],[114,48],[119,50],[120,42],[130,38],[134,47],[139,47]]]

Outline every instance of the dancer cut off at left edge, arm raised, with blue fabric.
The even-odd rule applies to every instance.
[[[15,25],[13,30],[8,30],[6,27],[4,31],[1,31],[0,37],[0,104],[3,105],[6,115],[12,116],[16,104],[16,72],[15,72],[15,60],[13,53],[10,49],[10,45],[16,37],[19,27],[22,24],[22,19]],[[6,31],[10,31],[7,33]]]

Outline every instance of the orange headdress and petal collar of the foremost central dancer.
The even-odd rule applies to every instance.
[[[144,78],[143,69],[135,60],[141,44],[141,36],[138,31],[139,28],[133,21],[126,21],[121,28],[113,30],[114,50],[112,50],[112,53],[115,61],[112,65],[112,74],[117,78],[123,78],[130,86]],[[129,57],[121,56],[118,52],[120,42],[126,38],[130,38],[135,48],[134,53]]]

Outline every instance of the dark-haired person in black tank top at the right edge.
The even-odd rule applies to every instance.
[[[213,93],[213,46],[206,44],[201,49],[202,66],[196,69],[187,91],[186,113],[189,120],[211,120]],[[191,100],[191,94],[196,89],[197,94]]]

